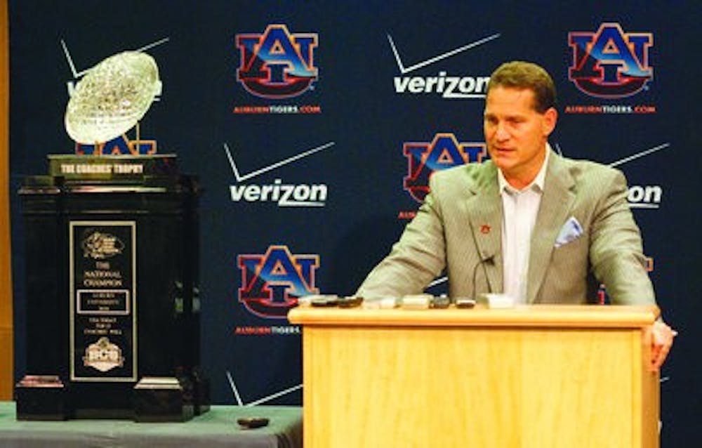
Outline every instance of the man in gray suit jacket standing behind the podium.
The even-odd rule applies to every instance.
[[[653,304],[642,242],[620,171],[548,145],[555,86],[530,62],[491,75],[484,110],[490,160],[437,171],[417,216],[357,291],[418,294],[443,270],[451,297],[504,293],[518,303]],[[654,324],[658,369],[675,333]]]

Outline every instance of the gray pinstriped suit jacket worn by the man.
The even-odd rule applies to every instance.
[[[550,154],[531,237],[528,303],[596,303],[599,282],[612,303],[655,303],[627,191],[621,171]],[[557,247],[571,217],[583,232]],[[451,297],[502,292],[502,219],[491,161],[435,172],[417,216],[357,295],[418,294],[444,270]]]

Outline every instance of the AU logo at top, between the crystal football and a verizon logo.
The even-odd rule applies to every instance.
[[[241,65],[237,81],[263,98],[300,95],[317,80],[317,34],[291,34],[285,25],[268,25],[263,34],[237,34]]]

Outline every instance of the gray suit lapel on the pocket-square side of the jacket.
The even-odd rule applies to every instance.
[[[527,303],[536,301],[536,294],[543,284],[556,237],[571,213],[575,200],[574,185],[574,180],[563,159],[552,152],[546,171],[541,205],[536,215],[534,233],[531,235]]]

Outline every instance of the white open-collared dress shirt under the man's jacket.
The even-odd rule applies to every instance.
[[[531,233],[534,232],[538,206],[541,204],[543,183],[550,146],[546,145],[546,157],[536,178],[517,190],[507,183],[501,170],[498,170],[498,185],[502,197],[502,259],[503,293],[515,299],[515,303],[527,301],[527,275],[529,274],[529,251]]]

